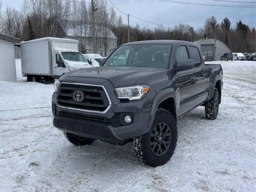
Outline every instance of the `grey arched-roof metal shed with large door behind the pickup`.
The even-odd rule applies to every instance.
[[[205,61],[220,60],[220,57],[224,53],[231,52],[226,44],[214,38],[203,38],[193,43],[198,45],[205,58]]]

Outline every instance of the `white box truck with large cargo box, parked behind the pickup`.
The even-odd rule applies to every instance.
[[[22,75],[28,81],[49,81],[79,68],[90,68],[78,51],[78,40],[45,37],[20,43]]]

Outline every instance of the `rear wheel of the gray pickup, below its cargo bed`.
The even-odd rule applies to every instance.
[[[205,102],[205,116],[207,119],[214,120],[218,116],[220,97],[218,89],[214,89],[214,94],[212,99],[208,102]]]

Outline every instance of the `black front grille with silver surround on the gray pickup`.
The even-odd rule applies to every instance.
[[[82,102],[76,102],[73,99],[74,92],[76,91],[83,92],[84,99]],[[102,85],[63,82],[58,90],[57,104],[58,107],[65,109],[106,113],[111,107],[111,100]]]

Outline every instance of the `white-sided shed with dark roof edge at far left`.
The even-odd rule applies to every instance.
[[[0,34],[0,81],[17,81],[14,44],[19,38]]]

